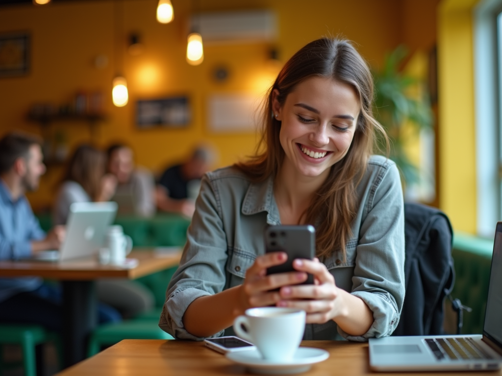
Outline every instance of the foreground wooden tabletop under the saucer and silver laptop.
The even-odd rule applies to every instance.
[[[499,375],[502,372],[371,372],[367,343],[347,341],[303,341],[302,346],[319,347],[330,356],[303,373],[310,376],[374,375],[446,376],[450,374]],[[204,346],[182,340],[126,339],[58,373],[58,376],[212,376],[246,374],[243,366]]]

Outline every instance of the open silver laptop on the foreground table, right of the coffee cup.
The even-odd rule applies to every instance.
[[[376,371],[502,367],[502,222],[495,231],[483,334],[370,338],[369,365]]]

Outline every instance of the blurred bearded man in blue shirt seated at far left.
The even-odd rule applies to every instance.
[[[44,172],[38,138],[9,133],[0,140],[0,260],[29,258],[61,246],[64,226],[45,234],[25,197],[38,189]],[[99,304],[98,313],[100,323],[120,320],[104,304]],[[45,284],[39,277],[0,278],[0,322],[39,324],[60,332],[60,286]]]

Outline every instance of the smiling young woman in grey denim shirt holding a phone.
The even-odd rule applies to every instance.
[[[398,169],[371,155],[373,81],[347,42],[298,51],[270,89],[257,155],[208,173],[159,325],[177,338],[219,336],[250,307],[307,313],[304,339],[390,335],[404,300]],[[386,138],[387,139],[387,138]],[[317,258],[266,275],[267,225],[312,224]],[[297,285],[314,275],[314,285]],[[225,334],[229,334],[227,329]]]

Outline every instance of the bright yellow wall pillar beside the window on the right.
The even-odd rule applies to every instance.
[[[444,0],[438,8],[440,207],[455,230],[476,233],[472,8]]]

